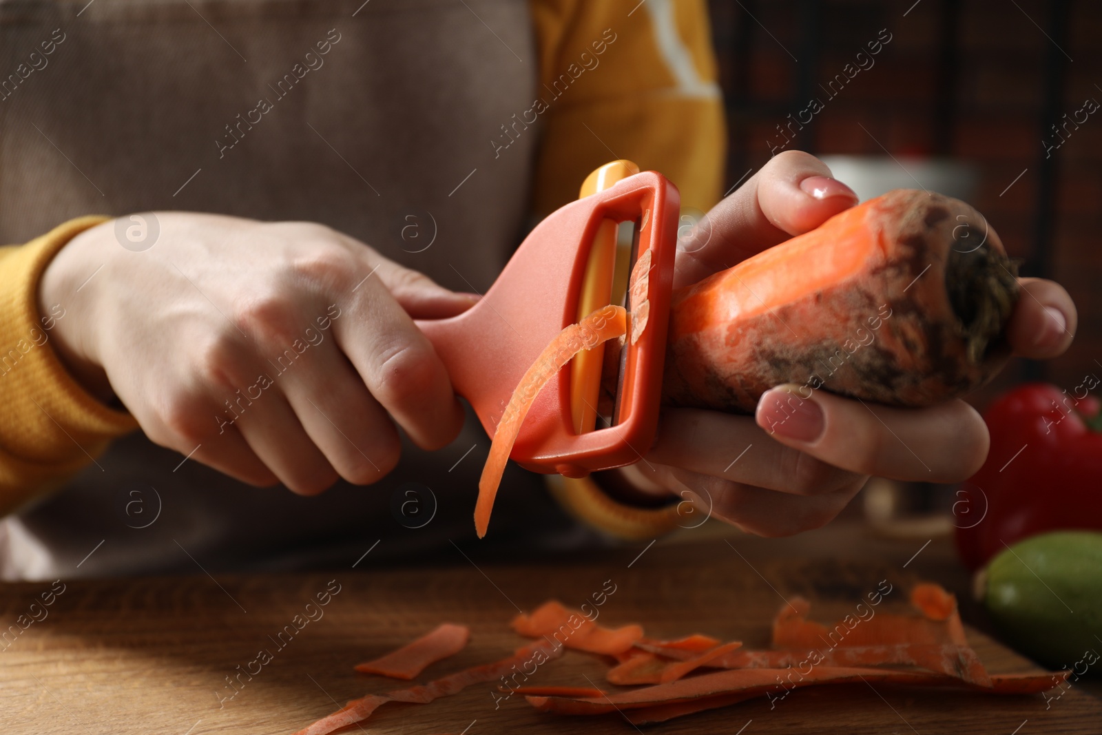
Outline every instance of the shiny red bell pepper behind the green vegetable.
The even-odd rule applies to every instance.
[[[1015,541],[1060,529],[1102,530],[1102,412],[1088,391],[1028,383],[984,413],[991,451],[957,490],[957,548],[970,569]]]

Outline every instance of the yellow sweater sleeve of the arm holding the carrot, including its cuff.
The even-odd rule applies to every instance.
[[[581,182],[614,159],[666,175],[682,208],[719,199],[726,123],[705,0],[530,0],[540,53],[543,118],[534,210],[577,198]],[[528,118],[531,119],[530,117]],[[677,506],[618,502],[592,478],[548,476],[573,516],[624,540],[677,527]]]

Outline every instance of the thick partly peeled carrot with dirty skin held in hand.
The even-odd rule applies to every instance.
[[[752,413],[787,382],[892,406],[962,396],[1009,356],[1013,270],[969,205],[890,192],[676,291],[663,400]]]

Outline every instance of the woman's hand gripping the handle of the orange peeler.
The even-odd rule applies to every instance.
[[[40,288],[40,304],[68,313],[54,332],[63,361],[152,441],[310,495],[390,472],[395,422],[425,448],[456,436],[463,410],[412,318],[472,298],[321,225],[154,216],[153,247],[127,249],[105,223]]]

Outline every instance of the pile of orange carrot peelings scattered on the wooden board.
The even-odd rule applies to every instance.
[[[951,594],[923,583],[914,587],[910,602],[912,613],[878,613],[856,625],[840,621],[831,627],[809,620],[810,604],[793,597],[774,619],[771,646],[747,650],[738,641],[722,642],[702,634],[660,640],[648,638],[639,625],[606,628],[581,610],[550,601],[514,618],[514,631],[536,641],[512,656],[425,684],[353,700],[296,735],[328,735],[364,722],[389,702],[429,704],[485,682],[499,682],[503,699],[523,696],[541,712],[618,713],[642,725],[756,698],[776,703],[804,687],[879,682],[1025,695],[1058,687],[1070,673],[988,673],[964,638]],[[844,637],[839,630],[845,631]],[[412,679],[463,649],[468,635],[466,626],[444,624],[356,670]],[[543,677],[547,669],[538,667],[565,649],[599,657],[609,667],[606,680],[618,691],[597,689],[587,677],[553,685],[529,681]]]

